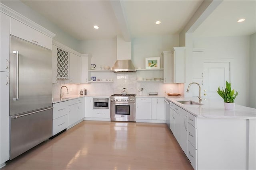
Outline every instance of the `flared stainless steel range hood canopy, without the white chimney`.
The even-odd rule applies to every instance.
[[[132,60],[117,60],[111,68],[112,72],[136,72]]]

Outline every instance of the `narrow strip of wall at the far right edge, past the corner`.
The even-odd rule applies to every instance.
[[[250,107],[256,108],[256,33],[250,35]]]

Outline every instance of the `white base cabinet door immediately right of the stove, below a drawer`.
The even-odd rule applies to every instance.
[[[151,119],[151,98],[136,98],[136,119]]]

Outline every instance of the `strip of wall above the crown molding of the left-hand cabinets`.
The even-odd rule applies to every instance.
[[[47,20],[46,18],[44,18],[44,16],[32,10],[30,7],[26,6],[19,0],[1,0],[1,3],[8,6],[12,10],[20,13],[26,18],[36,22],[37,24],[48,29],[49,31],[55,33],[56,36],[53,38],[54,40],[70,47],[71,49],[78,51],[78,40],[74,39],[68,33],[62,31],[62,29],[60,29],[57,25]]]

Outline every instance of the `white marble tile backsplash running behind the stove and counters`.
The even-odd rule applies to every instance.
[[[149,92],[158,92],[158,95],[166,93],[180,93],[184,96],[184,83],[165,84],[162,82],[137,82],[136,73],[116,73],[114,82],[92,82],[90,84],[66,84],[65,80],[58,80],[53,86],[53,98],[60,96],[61,86],[67,86],[69,94],[63,88],[64,96],[80,93],[80,89],[85,88],[88,95],[112,95],[121,94],[123,88],[126,88],[127,94],[136,94],[139,96],[138,89],[143,88],[142,95],[148,95]]]

